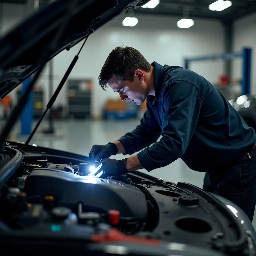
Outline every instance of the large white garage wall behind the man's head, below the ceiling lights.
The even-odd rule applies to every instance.
[[[14,8],[14,7],[13,7]],[[10,14],[11,15],[11,14]],[[100,70],[109,53],[123,43],[138,49],[149,62],[157,61],[162,65],[184,66],[185,57],[204,56],[223,52],[223,28],[217,21],[197,20],[190,29],[176,26],[178,17],[137,16],[139,23],[134,28],[122,26],[125,16],[118,17],[88,39],[70,78],[90,78],[93,80],[93,115],[99,116],[107,98],[119,97],[117,93],[104,92],[98,85]],[[17,16],[15,17],[17,20]],[[5,25],[5,21],[4,21]],[[64,51],[54,59],[55,88],[66,72],[80,46]],[[222,62],[192,63],[190,69],[216,83],[223,72]],[[47,69],[43,79],[38,81],[45,88],[45,103],[48,101]],[[63,87],[56,105],[66,105],[66,87]]]

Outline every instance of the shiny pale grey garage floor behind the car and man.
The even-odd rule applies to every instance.
[[[37,134],[31,143],[88,156],[92,145],[107,144],[108,142],[117,140],[125,133],[132,131],[138,124],[139,120],[55,121],[54,126],[57,134],[60,135],[59,137]],[[40,127],[45,129],[48,127],[48,123],[43,122]],[[26,137],[19,136],[19,133],[20,123],[16,125],[12,135],[18,141],[25,141]],[[123,155],[116,155],[113,158],[122,159]],[[142,172],[146,171],[142,170]],[[169,166],[153,170],[150,172],[150,175],[174,183],[180,181],[188,182],[202,188],[205,174],[190,170],[181,159],[178,159]],[[254,216],[256,216],[256,213]],[[253,227],[256,229],[256,217],[253,221]]]

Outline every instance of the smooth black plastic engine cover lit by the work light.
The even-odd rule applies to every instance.
[[[74,212],[78,203],[82,203],[84,211],[107,213],[116,209],[122,217],[142,220],[147,217],[147,202],[142,191],[115,180],[40,168],[27,177],[24,190],[28,196],[40,196],[40,199],[52,195],[59,206]]]

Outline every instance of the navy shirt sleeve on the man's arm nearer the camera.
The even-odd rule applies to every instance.
[[[138,153],[141,165],[148,172],[171,164],[185,153],[200,115],[197,90],[194,84],[183,80],[165,86],[161,99],[165,111],[162,138]]]

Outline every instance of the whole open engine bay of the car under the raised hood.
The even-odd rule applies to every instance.
[[[33,237],[34,242],[181,243],[227,255],[255,253],[232,212],[191,184],[138,171],[99,178],[87,157],[33,146],[22,157],[15,152],[22,154],[18,142],[1,153],[11,170],[1,169],[8,174],[0,197],[2,244],[32,246]]]

